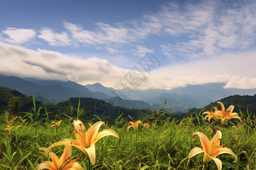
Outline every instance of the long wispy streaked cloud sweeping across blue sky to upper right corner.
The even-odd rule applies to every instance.
[[[255,8],[254,1],[229,3],[229,6],[222,1],[171,2],[140,19],[112,25],[96,22],[93,29],[64,22],[67,31],[56,33],[42,28],[39,37],[53,46],[85,46],[105,49],[110,54],[137,56],[142,55],[142,46],[148,49],[143,41],[149,36],[168,37],[169,42],[159,44],[162,53],[167,58],[192,61],[253,44]]]

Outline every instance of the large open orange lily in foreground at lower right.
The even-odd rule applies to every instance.
[[[217,133],[214,135],[214,137],[209,141],[207,136],[201,132],[196,132],[193,133],[193,136],[195,137],[196,135],[199,136],[201,145],[203,147],[195,147],[189,152],[188,158],[192,158],[192,156],[195,156],[197,154],[200,154],[201,152],[204,152],[204,158],[203,162],[208,163],[211,160],[214,160],[214,162],[217,165],[218,170],[222,168],[222,163],[221,160],[216,158],[217,155],[220,154],[230,154],[235,158],[235,161],[237,161],[237,155],[234,154],[230,148],[224,147],[225,145],[220,146],[220,141],[221,141],[221,131],[217,131]]]

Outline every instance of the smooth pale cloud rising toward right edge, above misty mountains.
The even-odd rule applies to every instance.
[[[190,63],[180,63],[151,71],[142,86],[171,89],[187,84],[224,82],[226,88],[256,88],[256,50],[222,54]],[[156,85],[161,84],[161,85]]]

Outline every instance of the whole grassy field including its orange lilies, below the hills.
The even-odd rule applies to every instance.
[[[166,111],[115,120],[1,117],[1,169],[256,169],[255,115],[218,102],[182,120]],[[79,109],[78,109],[79,110]],[[79,113],[79,111],[78,111]]]

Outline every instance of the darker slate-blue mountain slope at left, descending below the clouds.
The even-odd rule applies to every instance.
[[[92,92],[88,88],[72,81],[26,80],[16,76],[0,75],[0,86],[12,88],[27,96],[34,95],[36,100],[49,103],[57,103],[80,95],[82,97],[93,97],[94,99],[110,97],[102,92]]]

